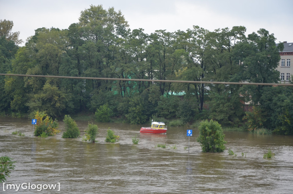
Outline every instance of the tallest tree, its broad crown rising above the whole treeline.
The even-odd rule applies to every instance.
[[[90,8],[81,11],[79,26],[84,32],[82,39],[86,40],[79,47],[81,57],[84,58],[84,75],[113,78],[115,74],[112,69],[117,63],[121,38],[127,34],[129,26],[121,11],[116,12],[113,7],[105,10],[102,5],[91,5]],[[91,87],[91,91],[100,86],[109,89],[108,82],[86,80],[86,86]]]

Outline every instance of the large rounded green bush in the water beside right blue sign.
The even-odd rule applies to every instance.
[[[223,152],[225,150],[224,133],[221,125],[214,120],[200,122],[199,137],[197,142],[202,147],[202,152]]]

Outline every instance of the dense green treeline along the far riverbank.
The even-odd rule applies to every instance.
[[[4,22],[0,22],[5,25]],[[12,23],[13,25],[13,23]],[[1,28],[1,30],[4,28]],[[11,29],[10,29],[11,30]],[[1,33],[1,73],[128,79],[277,83],[275,37],[234,26],[209,31],[130,30],[120,11],[93,6],[68,29],[39,28],[24,47]],[[17,40],[17,39],[16,39]],[[106,112],[141,124],[210,118],[250,130],[292,134],[292,87],[1,76],[1,114],[45,111],[54,118]],[[183,93],[179,98],[175,94]],[[241,101],[251,101],[245,112]],[[105,110],[106,109],[106,110]],[[291,124],[292,123],[292,124]]]

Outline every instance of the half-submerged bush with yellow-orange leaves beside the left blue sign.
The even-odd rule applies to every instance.
[[[59,124],[57,120],[54,120],[47,116],[44,112],[37,111],[34,116],[37,119],[37,125],[35,127],[35,136],[53,136],[60,132],[58,130]]]

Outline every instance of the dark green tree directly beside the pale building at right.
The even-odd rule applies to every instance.
[[[278,83],[280,79],[280,72],[277,71],[280,61],[279,51],[284,45],[276,46],[275,40],[274,34],[260,29],[257,33],[249,34],[247,41],[236,45],[234,61],[237,64],[240,61],[240,65],[233,79],[252,83]],[[245,85],[239,92],[246,97],[246,101],[252,100],[252,103],[256,105],[260,103],[263,87],[263,85]]]

